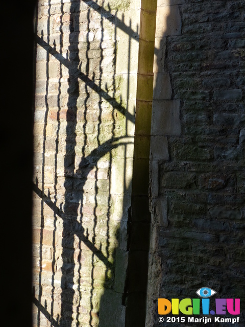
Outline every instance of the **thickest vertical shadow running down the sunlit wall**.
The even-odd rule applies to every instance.
[[[61,316],[60,326],[70,327],[72,324],[73,301],[74,301],[74,222],[77,219],[78,205],[71,203],[72,190],[70,186],[74,178],[75,170],[75,147],[76,147],[76,126],[77,126],[77,100],[79,97],[78,76],[75,74],[79,67],[79,8],[80,1],[71,2],[70,22],[69,22],[69,79],[68,79],[68,103],[66,113],[66,153],[64,157],[65,165],[65,204],[63,219],[63,239],[62,239],[62,278],[61,278]],[[73,206],[72,206],[73,205]],[[68,256],[67,256],[68,254]]]

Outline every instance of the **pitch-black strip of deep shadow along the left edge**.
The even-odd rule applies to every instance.
[[[32,326],[33,51],[35,1],[5,2],[1,20],[3,69],[1,172],[2,294],[5,325]],[[11,17],[11,18],[10,18]]]

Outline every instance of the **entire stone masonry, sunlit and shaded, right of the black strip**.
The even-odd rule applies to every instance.
[[[164,327],[203,286],[243,315],[244,7],[39,0],[33,327]]]

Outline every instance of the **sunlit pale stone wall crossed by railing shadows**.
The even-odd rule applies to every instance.
[[[109,3],[104,9],[104,1],[68,5],[69,12],[61,0],[54,14],[48,0],[47,18],[38,22],[35,325],[120,326],[134,124],[129,73],[138,31],[125,24],[123,14],[117,18]],[[111,42],[104,37],[108,21],[114,24]],[[122,96],[118,27],[128,34]]]

